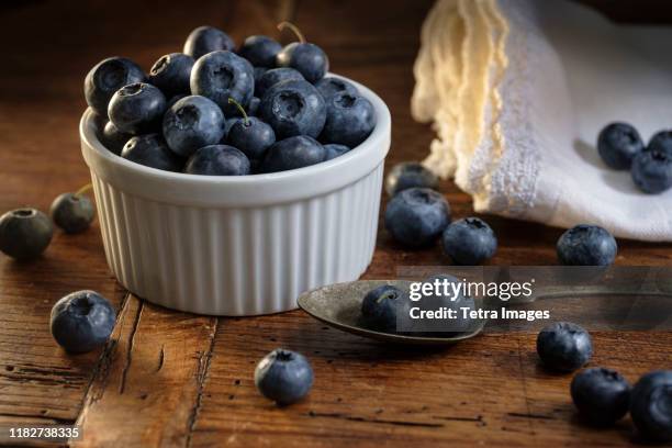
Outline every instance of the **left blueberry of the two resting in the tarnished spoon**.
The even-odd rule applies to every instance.
[[[404,293],[396,287],[383,284],[367,292],[361,302],[362,324],[385,333],[396,332],[396,312],[404,304]]]

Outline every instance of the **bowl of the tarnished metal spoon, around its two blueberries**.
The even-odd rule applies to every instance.
[[[381,333],[361,326],[359,322],[361,317],[360,309],[367,292],[383,284],[392,284],[403,291],[408,291],[411,283],[408,280],[359,280],[348,283],[336,283],[304,292],[296,302],[303,311],[329,326],[387,343],[450,345],[472,338],[483,331],[485,320],[475,322],[473,329],[470,332],[455,333],[452,335],[441,334],[440,336]],[[479,303],[477,301],[478,306]]]

